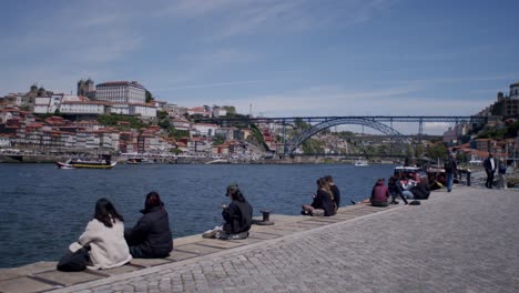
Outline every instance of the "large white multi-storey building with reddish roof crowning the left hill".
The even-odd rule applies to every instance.
[[[146,90],[136,81],[110,81],[95,85],[95,100],[113,103],[145,103]]]

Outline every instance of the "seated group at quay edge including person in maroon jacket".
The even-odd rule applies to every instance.
[[[427,200],[430,194],[430,188],[426,180],[416,181],[407,178],[406,181],[400,180],[399,176],[394,175],[388,180],[387,186],[385,179],[380,178],[375,182],[372,190],[372,196],[365,201],[372,203],[373,206],[388,206],[389,204],[398,204],[397,198],[400,198],[405,204],[407,200]],[[391,199],[389,202],[389,198]]]

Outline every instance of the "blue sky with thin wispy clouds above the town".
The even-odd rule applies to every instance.
[[[75,93],[91,78],[138,81],[183,107],[234,105],[263,117],[471,115],[519,82],[516,0],[0,7],[0,95],[34,83]]]

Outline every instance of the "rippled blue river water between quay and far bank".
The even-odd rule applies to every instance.
[[[316,180],[332,175],[342,206],[368,198],[393,165],[350,164],[139,164],[111,170],[60,170],[53,164],[0,164],[0,267],[57,261],[92,219],[95,201],[110,199],[136,223],[147,192],[157,191],[170,213],[173,238],[202,233],[222,221],[225,189],[237,182],[254,208],[299,214]]]

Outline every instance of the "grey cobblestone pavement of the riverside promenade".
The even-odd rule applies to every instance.
[[[401,206],[62,292],[519,292],[519,192]]]

